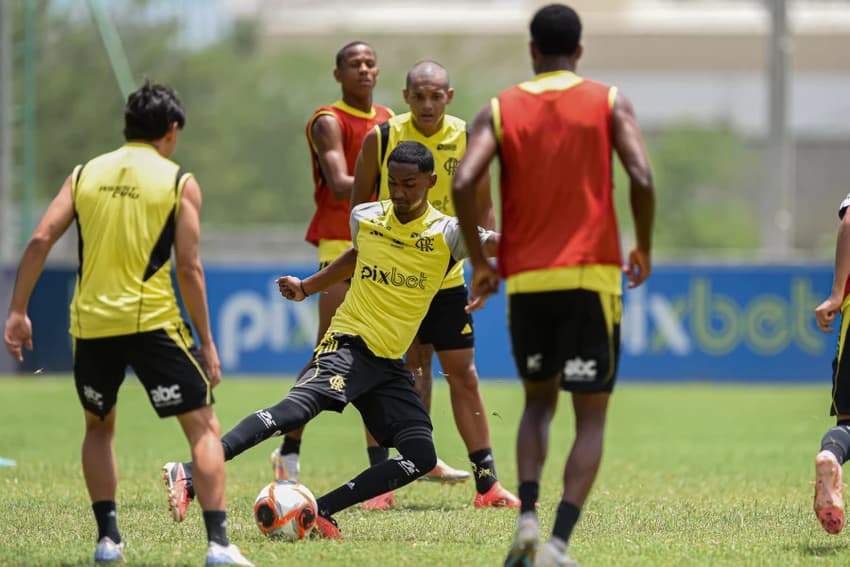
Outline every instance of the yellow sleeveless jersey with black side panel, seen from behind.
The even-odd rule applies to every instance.
[[[171,248],[190,175],[144,143],[127,143],[74,168],[80,256],[74,337],[128,335],[181,320]]]

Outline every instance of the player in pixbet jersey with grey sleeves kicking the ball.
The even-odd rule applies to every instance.
[[[399,144],[390,154],[388,175],[390,200],[351,211],[352,248],[304,280],[277,280],[281,294],[293,301],[346,278],[352,283],[310,367],[286,397],[249,415],[221,440],[230,460],[272,435],[303,426],[324,410],[341,412],[353,404],[381,445],[396,447],[399,455],[317,499],[317,527],[329,538],[339,537],[334,513],[409,484],[437,462],[431,418],[401,357],[440,289],[446,267],[466,251],[457,219],[428,203],[436,175],[434,158],[425,146]],[[480,238],[487,250],[495,251],[498,235],[482,229]],[[189,463],[169,466],[181,473],[169,487],[169,502],[176,503],[178,515],[185,515],[193,471]]]

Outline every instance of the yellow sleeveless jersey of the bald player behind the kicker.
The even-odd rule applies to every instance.
[[[424,136],[413,124],[410,112],[390,118],[382,125],[374,128],[378,134],[378,159],[381,171],[381,182],[378,188],[378,199],[389,199],[387,184],[387,158],[399,142],[419,142],[434,154],[434,173],[437,183],[428,191],[428,201],[438,211],[445,215],[455,216],[452,201],[452,178],[457,171],[460,158],[466,152],[466,122],[455,116],[446,114],[443,117],[443,127],[431,136]],[[463,262],[446,277],[444,288],[463,285]]]

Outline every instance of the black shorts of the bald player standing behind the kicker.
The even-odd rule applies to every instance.
[[[428,313],[419,325],[417,337],[423,345],[434,345],[437,352],[475,346],[472,315],[464,308],[466,286],[441,289],[431,300]]]

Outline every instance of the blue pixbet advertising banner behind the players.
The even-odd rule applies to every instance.
[[[308,266],[208,267],[213,333],[228,374],[293,374],[310,357],[316,297],[283,300],[274,279]],[[26,368],[70,370],[71,270],[49,270],[31,308],[36,352]],[[837,335],[813,310],[832,282],[829,266],[658,266],[623,298],[622,379],[823,381]],[[476,362],[485,378],[515,376],[503,294],[475,314]]]

